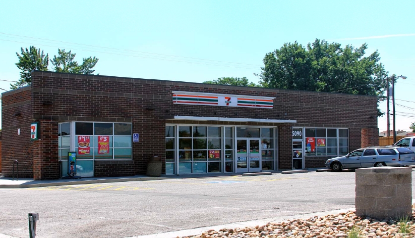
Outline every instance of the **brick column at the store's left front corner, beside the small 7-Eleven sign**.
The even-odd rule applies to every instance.
[[[40,139],[33,143],[33,179],[60,178],[56,121],[40,120]]]

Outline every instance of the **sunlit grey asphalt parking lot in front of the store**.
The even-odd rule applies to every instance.
[[[0,238],[27,237],[27,213],[26,221],[24,214],[33,211],[40,215],[39,237],[65,237],[72,230],[65,223],[72,221],[76,229],[73,237],[148,238],[200,234],[210,229],[354,210],[354,173],[310,172],[74,181],[0,178],[0,184],[8,188],[28,188],[10,189],[10,193],[0,196],[0,200],[4,198]],[[36,199],[25,202],[24,197],[31,194]],[[67,204],[68,196],[78,199],[79,205]]]

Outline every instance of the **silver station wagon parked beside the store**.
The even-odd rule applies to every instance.
[[[406,148],[368,147],[331,158],[324,164],[333,171],[368,167],[415,165],[415,153]]]

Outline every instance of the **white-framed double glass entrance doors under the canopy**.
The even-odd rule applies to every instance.
[[[260,172],[259,138],[236,139],[236,172]]]

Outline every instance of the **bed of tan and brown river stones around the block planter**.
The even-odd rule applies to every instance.
[[[309,219],[292,219],[285,222],[270,222],[263,226],[238,229],[208,230],[200,235],[183,236],[183,238],[242,238],[242,237],[276,237],[276,238],[341,238],[349,237],[350,230],[359,230],[360,236],[368,238],[415,237],[415,204],[412,205],[412,217],[406,223],[406,233],[401,233],[399,222],[378,221],[370,217],[358,217],[353,211]]]

